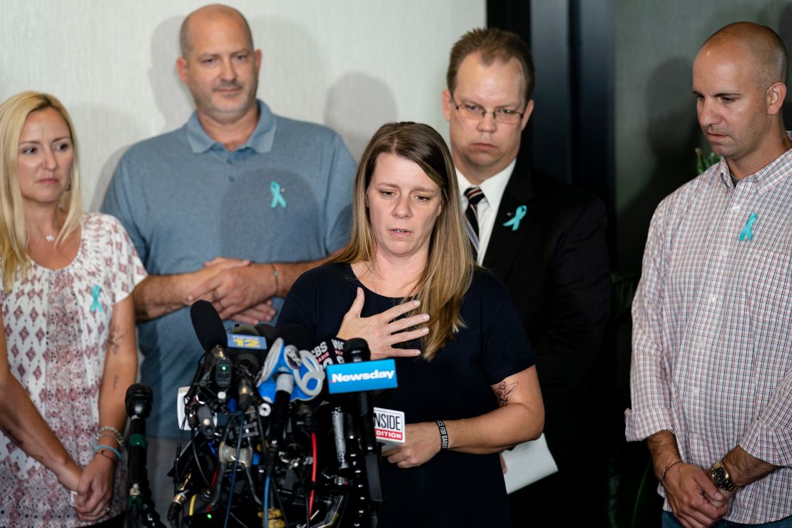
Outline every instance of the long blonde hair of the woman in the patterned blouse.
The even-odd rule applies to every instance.
[[[2,207],[0,267],[2,267],[2,287],[6,292],[10,291],[17,272],[25,273],[30,268],[27,221],[17,173],[19,139],[28,116],[45,108],[52,108],[63,117],[69,127],[74,152],[70,186],[58,199],[59,207],[66,211],[67,215],[55,244],[66,240],[78,228],[82,218],[77,138],[74,135],[74,125],[71,123],[69,112],[56,97],[47,93],[17,93],[0,104],[0,207]]]

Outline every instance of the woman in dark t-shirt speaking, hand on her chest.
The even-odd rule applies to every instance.
[[[278,322],[395,358],[398,389],[375,405],[405,413],[406,443],[383,453],[381,526],[510,526],[498,451],[542,431],[535,356],[508,291],[474,263],[443,138],[383,125],[352,209],[349,244],[298,279]]]

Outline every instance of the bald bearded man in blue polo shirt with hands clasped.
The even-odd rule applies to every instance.
[[[181,27],[177,71],[195,100],[184,127],[132,146],[102,211],[124,224],[148,275],[135,289],[142,379],[154,391],[149,467],[173,499],[177,388],[202,354],[187,306],[273,321],[291,283],[345,245],[355,164],[329,128],[256,99],[261,51],[241,13],[205,6]]]

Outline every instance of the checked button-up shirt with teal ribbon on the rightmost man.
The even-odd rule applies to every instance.
[[[735,494],[733,522],[792,515],[790,256],[792,150],[737,185],[722,159],[649,227],[626,437],[672,431],[683,461],[705,469],[737,445],[783,466]]]

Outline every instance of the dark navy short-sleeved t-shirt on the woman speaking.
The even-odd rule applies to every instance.
[[[348,264],[329,264],[295,282],[278,325],[303,325],[314,342],[335,336],[357,287],[365,292],[362,317],[402,302],[367,290]],[[491,273],[476,272],[461,314],[465,328],[432,361],[395,360],[398,388],[375,405],[403,411],[407,424],[471,418],[497,408],[491,386],[531,367],[534,351],[506,287]],[[417,343],[402,346],[418,348]],[[386,503],[379,519],[385,528],[511,526],[497,454],[441,450],[409,469],[383,460],[383,482]]]

